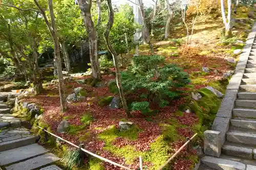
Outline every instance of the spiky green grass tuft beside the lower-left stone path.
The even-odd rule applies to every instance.
[[[73,167],[79,167],[83,164],[79,149],[68,149],[64,153],[61,161],[65,162],[65,165],[67,165],[68,169],[72,169]]]

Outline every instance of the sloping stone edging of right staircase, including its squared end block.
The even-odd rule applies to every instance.
[[[250,55],[254,37],[256,35],[256,22],[247,37],[246,44],[242,54],[239,57],[234,75],[231,77],[227,86],[225,96],[221,102],[212,130],[204,132],[204,153],[210,156],[219,157],[221,155],[221,147],[226,139],[226,132],[229,129],[229,120],[232,117],[232,109],[237,99],[237,92],[241,84],[247,60]]]

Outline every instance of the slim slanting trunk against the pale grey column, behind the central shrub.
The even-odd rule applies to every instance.
[[[150,42],[150,33],[148,32],[148,28],[146,25],[146,17],[145,17],[145,12],[144,12],[144,6],[142,3],[142,0],[138,0],[139,2],[139,6],[140,6],[140,12],[141,12],[141,16],[142,16],[142,29],[144,29],[144,33],[145,33],[145,41],[148,43],[148,45],[150,45],[150,49],[151,49],[151,55],[154,55],[154,49],[153,49],[153,45]],[[142,31],[143,32],[143,31]]]

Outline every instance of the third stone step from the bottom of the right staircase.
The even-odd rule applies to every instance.
[[[226,139],[230,142],[256,144],[256,133],[246,133],[239,131],[228,131]]]

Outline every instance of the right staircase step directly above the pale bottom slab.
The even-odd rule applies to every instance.
[[[251,148],[252,147],[252,148]],[[222,146],[222,153],[226,155],[238,156],[242,158],[253,159],[253,145],[250,148],[243,147],[243,145],[239,145],[232,142],[226,142]]]

